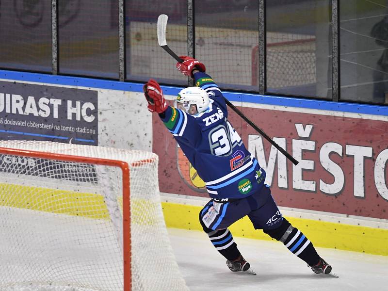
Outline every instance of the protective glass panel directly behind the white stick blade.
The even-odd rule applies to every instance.
[[[168,16],[166,41],[178,56],[187,55],[187,3],[181,0],[126,0],[126,79],[187,85],[187,77],[175,68],[177,61],[158,44],[156,23]]]

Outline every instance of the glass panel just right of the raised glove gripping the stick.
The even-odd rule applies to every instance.
[[[258,1],[194,3],[196,59],[219,86],[258,91]]]

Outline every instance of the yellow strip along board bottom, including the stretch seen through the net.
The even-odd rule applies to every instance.
[[[109,219],[109,212],[99,194],[5,183],[1,183],[0,187],[1,206],[93,220]],[[7,193],[17,193],[17,199],[7,199]],[[141,201],[131,201],[132,210],[141,210],[143,205]],[[198,221],[200,206],[162,202],[162,209],[167,227],[202,230]],[[293,226],[301,229],[316,246],[388,256],[388,229],[285,217]],[[271,240],[261,230],[255,230],[247,217],[233,224],[230,230],[236,237]]]

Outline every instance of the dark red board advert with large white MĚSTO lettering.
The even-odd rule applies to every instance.
[[[242,102],[232,99],[234,105],[243,105],[239,107],[242,113],[299,161],[297,166],[292,165],[229,111],[228,120],[266,171],[265,182],[279,206],[388,219],[387,107],[375,106],[386,114],[377,115],[362,113],[364,107],[372,106],[359,104],[337,105],[356,109],[357,113],[324,109],[332,102],[308,104],[305,100],[307,105],[323,109],[297,108],[253,103],[254,97],[244,98],[242,94],[237,97]],[[296,105],[297,100],[291,102]],[[163,157],[159,166],[161,191],[206,197],[203,184],[192,178],[195,172],[190,164],[182,162],[184,157],[171,134],[158,116],[154,115],[153,121],[153,151]],[[174,183],[171,177],[175,177]]]

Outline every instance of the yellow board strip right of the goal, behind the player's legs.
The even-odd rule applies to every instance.
[[[198,220],[202,207],[169,202],[162,202],[162,207],[167,227],[202,231]],[[300,229],[315,246],[388,256],[388,229],[284,217]],[[262,230],[255,230],[247,216],[229,229],[235,237],[274,240]]]

